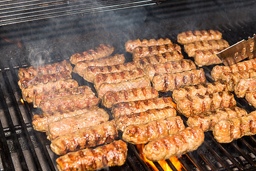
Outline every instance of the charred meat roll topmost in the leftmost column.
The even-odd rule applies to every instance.
[[[63,60],[62,62],[47,64],[41,67],[28,67],[28,68],[20,68],[19,69],[19,79],[22,78],[34,78],[35,76],[40,75],[51,75],[57,74],[59,72],[72,72],[72,66],[67,60]]]

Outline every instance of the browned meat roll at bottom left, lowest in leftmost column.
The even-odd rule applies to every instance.
[[[122,140],[67,153],[56,159],[59,170],[99,170],[111,166],[121,166],[127,158],[127,144]]]

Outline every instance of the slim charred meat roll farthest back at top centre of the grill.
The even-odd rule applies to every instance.
[[[172,44],[172,41],[168,38],[160,38],[160,39],[136,39],[136,40],[128,40],[125,43],[125,51],[127,52],[133,52],[133,50],[136,47],[147,47],[147,46],[160,46],[160,45],[164,45],[164,44]]]

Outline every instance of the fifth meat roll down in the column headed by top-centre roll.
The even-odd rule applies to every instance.
[[[175,74],[156,74],[152,79],[153,87],[157,91],[162,92],[173,91],[174,88],[181,86],[192,86],[205,82],[205,72],[202,68]]]

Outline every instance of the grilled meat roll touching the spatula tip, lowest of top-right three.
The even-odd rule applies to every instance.
[[[198,67],[210,66],[213,64],[222,63],[221,59],[216,54],[221,52],[222,49],[209,49],[209,50],[197,50],[194,55],[194,63]]]

